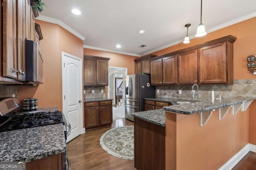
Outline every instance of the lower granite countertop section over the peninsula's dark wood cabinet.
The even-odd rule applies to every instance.
[[[132,116],[165,127],[165,113],[163,109],[140,111],[132,113]]]

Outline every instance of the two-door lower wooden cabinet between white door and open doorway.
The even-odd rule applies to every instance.
[[[84,102],[85,129],[112,123],[112,100]]]

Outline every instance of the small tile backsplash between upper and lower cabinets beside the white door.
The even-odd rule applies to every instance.
[[[84,86],[84,90],[85,99],[106,98],[105,86]],[[94,90],[94,94],[92,94],[92,90]],[[103,93],[101,93],[101,90],[103,90]]]

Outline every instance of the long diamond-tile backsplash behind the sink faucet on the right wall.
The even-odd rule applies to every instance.
[[[222,98],[232,98],[236,96],[256,97],[256,79],[234,80],[234,84],[209,84],[199,86],[199,100],[211,100],[212,89],[215,98],[221,95]],[[192,84],[189,85],[164,85],[156,86],[159,93],[158,98],[174,98],[192,100]],[[182,90],[182,94],[179,94]],[[196,90],[196,87],[194,88]],[[197,98],[197,96],[195,96]]]

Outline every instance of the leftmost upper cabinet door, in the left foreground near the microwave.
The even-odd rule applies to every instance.
[[[16,0],[3,0],[3,76],[17,78]]]

